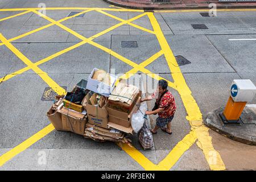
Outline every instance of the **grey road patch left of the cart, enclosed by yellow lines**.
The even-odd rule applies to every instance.
[[[13,148],[49,125],[48,102],[41,101],[48,86],[38,75],[19,75],[1,83],[1,148]],[[31,108],[35,108],[32,109]]]

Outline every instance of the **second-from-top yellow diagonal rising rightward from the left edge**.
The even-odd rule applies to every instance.
[[[89,11],[93,11],[93,10],[85,10],[85,11],[82,11],[81,13],[77,13],[77,14],[75,14],[75,15],[73,15],[73,16],[68,16],[68,17],[65,17],[65,18],[63,18],[63,19],[60,19],[60,20],[58,20],[57,22],[58,22],[58,23],[64,22],[65,20],[68,20],[68,19],[71,19],[71,18],[75,18],[76,16],[79,16],[80,14],[87,13],[87,12],[89,12]],[[15,38],[9,39],[8,41],[9,41],[9,42],[13,42],[14,40],[18,40],[18,39],[24,38],[25,36],[34,34],[35,32],[38,32],[38,31],[43,30],[43,29],[45,29],[45,28],[51,27],[51,26],[53,26],[54,24],[55,24],[55,23],[49,23],[49,24],[47,24],[47,25],[45,25],[45,26],[43,26],[43,27],[36,28],[35,30],[32,30],[32,31],[27,32],[27,33],[25,33],[25,34],[16,36]],[[0,46],[2,46],[2,45],[3,45],[3,43],[0,43]]]

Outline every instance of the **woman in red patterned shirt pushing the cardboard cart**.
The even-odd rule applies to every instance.
[[[156,98],[155,106],[152,111],[146,111],[145,113],[148,115],[158,114],[159,116],[158,118],[156,118],[155,128],[151,130],[152,134],[156,134],[156,130],[158,130],[159,128],[168,134],[172,134],[171,121],[174,118],[176,104],[174,96],[172,96],[171,92],[167,90],[167,86],[168,84],[166,80],[159,80],[157,92],[141,100],[143,102]],[[167,128],[164,127],[166,125]]]

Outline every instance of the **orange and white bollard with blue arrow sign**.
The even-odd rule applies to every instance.
[[[233,80],[230,97],[220,117],[224,126],[241,125],[240,115],[247,102],[253,100],[256,88],[251,80]]]

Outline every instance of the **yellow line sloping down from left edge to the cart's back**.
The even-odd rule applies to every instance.
[[[26,56],[23,55],[18,49],[16,49],[8,40],[0,34],[0,40],[9,48],[20,60],[23,61],[28,67],[30,67],[36,74],[38,74],[57,94],[63,95],[66,91],[61,88],[51,77],[48,76],[46,72],[43,72],[42,69],[38,68],[32,61],[30,61]]]

